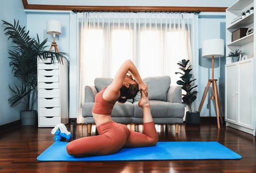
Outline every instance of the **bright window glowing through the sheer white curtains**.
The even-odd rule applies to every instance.
[[[142,78],[169,75],[172,82],[177,81],[176,63],[188,58],[186,33],[161,27],[139,30],[138,25],[87,28],[82,47],[85,83],[92,85],[95,77],[113,78],[126,59],[134,61]]]

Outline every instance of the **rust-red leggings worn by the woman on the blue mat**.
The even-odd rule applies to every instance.
[[[154,146],[158,134],[154,122],[144,123],[144,133],[129,130],[116,122],[108,122],[97,127],[99,135],[79,138],[67,145],[68,154],[76,157],[107,155],[123,147]]]

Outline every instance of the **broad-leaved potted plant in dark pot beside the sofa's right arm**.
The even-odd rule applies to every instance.
[[[195,90],[195,87],[193,86],[193,82],[196,79],[192,79],[191,74],[191,65],[188,64],[189,60],[182,59],[177,64],[180,66],[179,69],[183,71],[181,72],[175,72],[175,74],[180,74],[180,79],[176,83],[177,85],[182,86],[181,88],[186,92],[185,94],[182,94],[182,100],[183,102],[188,105],[189,111],[186,112],[186,118],[185,122],[188,125],[199,125],[200,124],[200,113],[198,111],[192,111],[191,105],[196,99],[197,91]]]

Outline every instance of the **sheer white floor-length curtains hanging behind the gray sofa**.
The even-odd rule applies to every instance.
[[[190,59],[197,75],[195,43],[197,15],[188,13],[78,13],[80,33],[78,123],[83,123],[81,106],[85,85],[96,77],[113,78],[119,66],[131,59],[142,78],[171,76],[176,85],[177,62]],[[196,69],[196,70],[195,70]]]

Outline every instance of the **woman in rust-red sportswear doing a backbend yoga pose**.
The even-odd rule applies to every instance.
[[[139,106],[143,108],[144,133],[129,130],[125,125],[111,120],[115,102],[124,103],[127,99],[134,98],[139,90],[141,92]],[[108,155],[123,147],[154,146],[158,142],[158,134],[150,110],[147,84],[142,81],[131,60],[125,61],[117,71],[113,82],[96,94],[92,115],[99,135],[70,142],[67,145],[68,154],[75,157]]]

